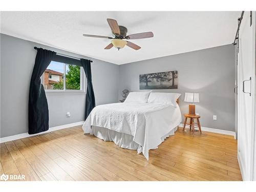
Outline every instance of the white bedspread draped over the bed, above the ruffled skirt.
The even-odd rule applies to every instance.
[[[96,106],[82,129],[91,132],[91,126],[105,127],[116,132],[132,135],[142,146],[148,160],[148,151],[157,148],[162,137],[181,122],[179,105],[156,103],[111,103]]]

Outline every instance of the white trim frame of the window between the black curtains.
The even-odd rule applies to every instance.
[[[64,78],[63,78],[63,90],[47,90],[45,89],[46,94],[48,95],[53,95],[53,94],[63,94],[63,93],[70,93],[70,94],[85,94],[86,93],[86,83],[85,83],[85,78],[86,74],[83,71],[83,68],[80,67],[80,90],[66,90],[66,65],[72,65],[69,63],[63,63],[64,67]],[[44,86],[44,76],[41,76],[41,84]]]

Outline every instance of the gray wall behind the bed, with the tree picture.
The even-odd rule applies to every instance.
[[[201,115],[201,125],[235,131],[234,54],[234,46],[226,45],[121,65],[119,93],[124,89],[139,91],[140,74],[177,70],[178,89],[153,91],[181,93],[182,114],[188,112],[189,104],[183,102],[184,93],[200,93],[196,113]],[[217,115],[217,120],[212,120],[212,115]]]

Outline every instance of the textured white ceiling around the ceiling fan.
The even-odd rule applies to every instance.
[[[231,44],[241,12],[1,12],[1,33],[94,57],[118,65]],[[104,50],[111,36],[106,18],[127,34],[152,31],[153,38],[130,40],[142,47]]]

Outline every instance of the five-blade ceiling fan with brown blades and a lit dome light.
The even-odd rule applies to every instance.
[[[123,39],[143,39],[143,38],[150,38],[154,36],[152,32],[136,33],[136,34],[126,36],[126,33],[127,33],[126,27],[119,26],[115,19],[107,18],[106,20],[109,23],[109,26],[112,30],[112,34],[114,38],[108,37],[108,36],[83,34],[83,36],[85,37],[98,37],[98,38],[112,39],[111,44],[106,46],[104,49],[111,49],[114,46],[119,50],[119,49],[122,49],[124,46],[128,46],[134,50],[139,50],[141,48],[140,46],[134,44],[133,42],[123,40]]]

